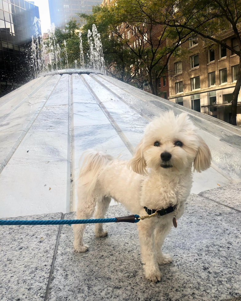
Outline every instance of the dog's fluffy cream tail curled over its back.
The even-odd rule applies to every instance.
[[[81,179],[82,185],[85,186],[86,191],[90,194],[96,186],[101,168],[113,160],[113,157],[103,152],[88,150],[81,155],[80,162],[82,159],[79,179]]]

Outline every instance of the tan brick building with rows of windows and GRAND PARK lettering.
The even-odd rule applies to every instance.
[[[239,49],[232,29],[221,33],[220,37],[227,45]],[[169,61],[169,100],[230,123],[239,57],[220,45],[207,50],[201,40],[188,41],[180,47],[180,51],[186,48],[190,53],[182,61],[177,57]],[[241,124],[240,107],[241,92],[237,125]]]

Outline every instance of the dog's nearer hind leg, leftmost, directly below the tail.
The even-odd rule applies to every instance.
[[[87,196],[85,193],[81,195],[79,199],[78,208],[76,212],[77,219],[89,219],[93,216],[95,210],[96,197],[92,195]],[[86,252],[89,248],[86,244],[83,243],[83,234],[86,224],[74,224],[74,250],[75,252]]]

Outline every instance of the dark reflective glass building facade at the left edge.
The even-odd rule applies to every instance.
[[[0,0],[0,93],[10,92],[32,77],[27,63],[38,6],[25,0]]]

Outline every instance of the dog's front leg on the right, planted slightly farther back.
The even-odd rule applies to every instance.
[[[162,245],[163,242],[171,230],[171,224],[161,224],[157,225],[154,231],[155,247],[156,247],[156,257],[159,264],[168,264],[172,262],[172,257],[170,254],[163,254]]]

